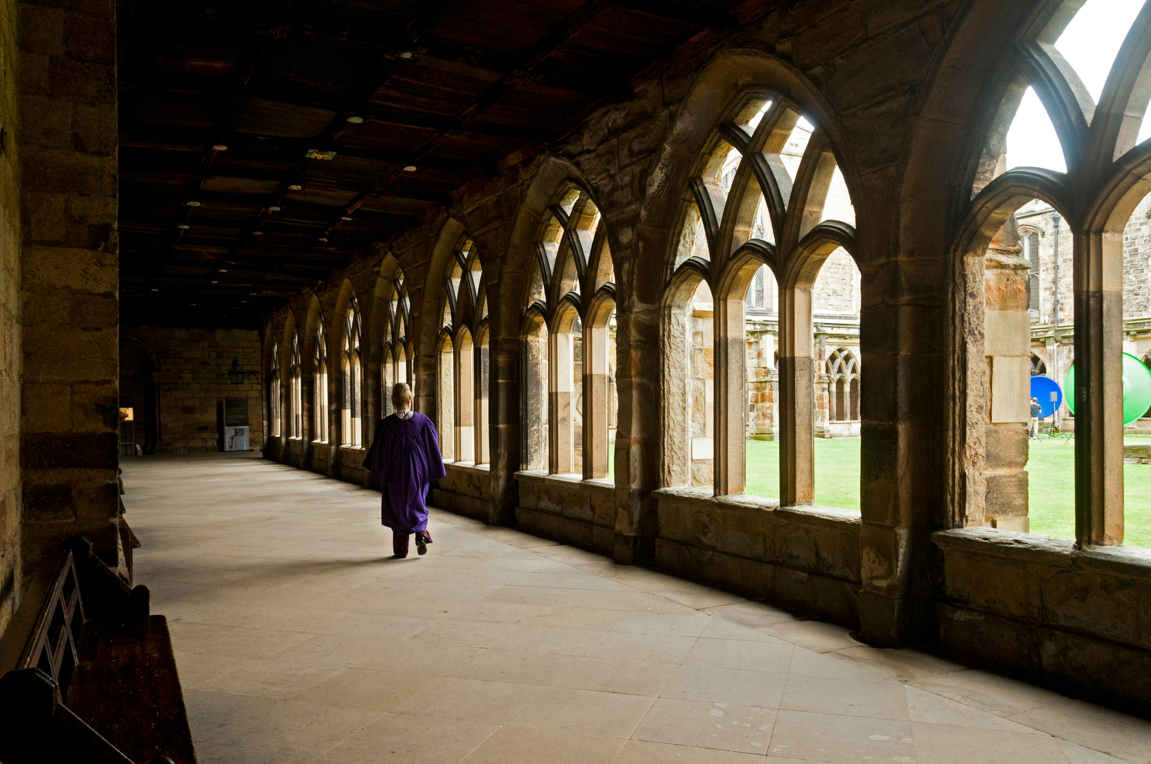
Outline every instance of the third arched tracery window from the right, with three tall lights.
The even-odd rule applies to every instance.
[[[615,267],[578,189],[548,208],[524,295],[524,466],[608,478],[616,433]]]

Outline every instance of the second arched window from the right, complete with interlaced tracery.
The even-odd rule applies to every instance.
[[[811,504],[817,422],[846,420],[859,395],[820,364],[826,341],[859,336],[861,303],[834,146],[799,104],[747,93],[681,199],[663,299],[661,480]],[[821,503],[832,501],[859,506],[857,492]]]

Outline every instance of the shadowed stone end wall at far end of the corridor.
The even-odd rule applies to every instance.
[[[157,453],[219,451],[219,410],[224,398],[247,398],[249,445],[253,451],[264,448],[260,379],[247,375],[243,384],[233,384],[227,374],[234,358],[242,369],[260,369],[259,333],[168,327],[123,327],[121,331],[125,343],[146,347],[154,359]],[[121,400],[123,406],[135,403]]]

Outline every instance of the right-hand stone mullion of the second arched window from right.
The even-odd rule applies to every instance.
[[[811,290],[779,290],[779,505],[815,502]]]

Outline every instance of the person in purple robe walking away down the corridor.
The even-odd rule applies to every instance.
[[[412,411],[412,389],[399,382],[391,388],[395,413],[380,421],[375,440],[364,459],[383,492],[380,521],[391,528],[391,551],[407,557],[407,537],[416,534],[416,549],[427,552],[428,509],[425,502],[433,480],[448,474],[440,454],[435,425]]]

